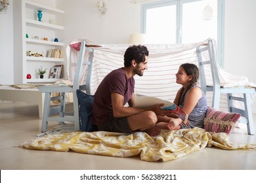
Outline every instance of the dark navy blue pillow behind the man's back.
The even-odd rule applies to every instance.
[[[93,100],[94,95],[87,95],[81,90],[76,90],[78,105],[79,105],[79,122],[81,131],[97,131],[96,126],[93,125]]]

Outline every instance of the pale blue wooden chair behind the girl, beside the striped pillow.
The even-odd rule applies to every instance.
[[[203,52],[208,52],[209,59],[205,60],[203,57]],[[205,53],[204,53],[205,54]],[[256,93],[256,88],[249,87],[232,87],[232,88],[223,88],[221,86],[220,78],[219,78],[219,67],[215,56],[215,48],[213,44],[213,40],[209,39],[208,43],[205,45],[198,46],[197,48],[198,55],[198,63],[200,70],[200,83],[203,92],[213,92],[213,100],[212,107],[219,109],[220,97],[221,93],[225,93],[227,97],[228,103],[228,112],[237,112],[241,114],[242,117],[238,122],[242,122],[247,124],[247,133],[249,135],[254,135],[254,127],[253,127],[253,116],[251,112],[251,94]],[[205,76],[206,65],[208,65],[208,69],[211,70],[211,78],[213,83],[211,85],[207,85],[207,80]],[[234,96],[237,93],[239,96]],[[234,107],[234,101],[239,101],[244,103],[244,109]]]

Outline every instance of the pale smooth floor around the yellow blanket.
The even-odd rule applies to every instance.
[[[256,119],[256,114],[253,115]],[[256,121],[256,120],[255,120]],[[256,123],[255,123],[256,124]],[[56,123],[50,124],[50,129]],[[255,125],[256,126],[256,125]],[[34,139],[41,129],[38,107],[26,103],[0,101],[0,169],[133,169],[133,170],[218,170],[256,169],[256,150],[221,150],[204,148],[188,156],[167,162],[141,161],[139,157],[112,158],[79,154],[75,152],[51,152],[26,150],[15,147]],[[235,129],[230,141],[256,144],[256,135],[247,135],[246,129]]]

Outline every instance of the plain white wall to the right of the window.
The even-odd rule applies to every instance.
[[[256,1],[225,3],[224,70],[256,83]]]

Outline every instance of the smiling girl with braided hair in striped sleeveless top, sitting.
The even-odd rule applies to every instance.
[[[156,126],[170,130],[203,127],[203,119],[208,106],[205,94],[196,84],[198,78],[198,67],[192,63],[182,64],[176,74],[176,82],[181,84],[182,88],[177,92],[173,103],[188,114],[188,123],[183,124],[180,118],[170,114],[169,116],[158,116]]]

